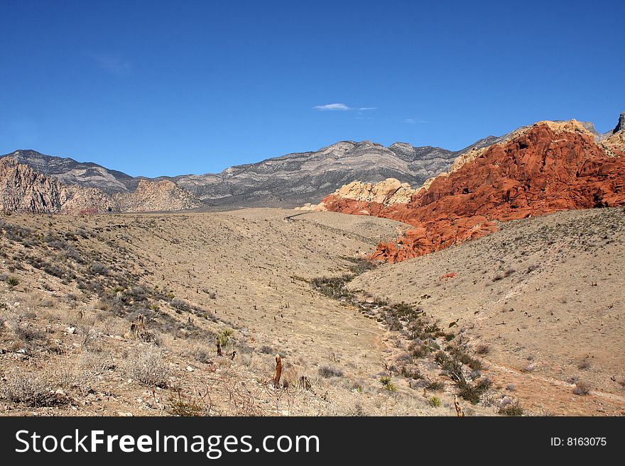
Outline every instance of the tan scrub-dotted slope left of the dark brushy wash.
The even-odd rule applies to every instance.
[[[384,389],[388,330],[310,285],[401,224],[293,213],[3,216],[1,411],[455,414],[449,394]]]

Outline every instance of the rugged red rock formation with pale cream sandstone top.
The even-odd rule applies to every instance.
[[[373,257],[391,262],[480,238],[496,231],[494,221],[624,205],[625,153],[618,148],[607,152],[575,124],[558,124],[537,123],[482,150],[405,204],[384,206],[331,194],[320,205],[415,227],[396,242],[378,246]]]

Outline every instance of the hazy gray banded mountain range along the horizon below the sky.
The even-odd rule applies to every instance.
[[[407,143],[394,143],[387,148],[370,141],[341,141],[314,152],[234,165],[221,173],[158,178],[131,177],[92,162],[77,162],[35,150],[16,150],[1,157],[11,157],[63,184],[98,188],[107,194],[134,192],[141,179],[168,179],[206,206],[297,206],[320,201],[354,179],[376,183],[392,177],[419,186],[425,179],[446,171],[458,155],[497,139],[489,136],[459,151]]]

